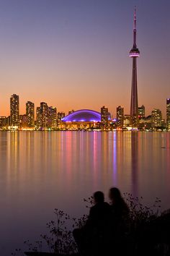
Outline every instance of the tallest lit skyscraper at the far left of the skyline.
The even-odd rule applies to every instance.
[[[10,98],[10,122],[11,126],[19,127],[19,95],[16,94]]]

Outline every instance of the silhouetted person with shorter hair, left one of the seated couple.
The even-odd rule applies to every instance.
[[[92,252],[93,255],[99,254],[99,247],[101,243],[104,243],[111,216],[111,208],[107,202],[104,202],[103,192],[97,191],[93,197],[94,206],[90,208],[85,226],[73,230],[73,237],[79,252],[84,255],[87,255],[88,252]]]

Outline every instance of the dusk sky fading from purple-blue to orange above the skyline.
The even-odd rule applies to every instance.
[[[169,0],[0,0],[0,115],[10,95],[58,111],[103,105],[130,112],[133,10],[138,100],[146,114],[170,97]]]

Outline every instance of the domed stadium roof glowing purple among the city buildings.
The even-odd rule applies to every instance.
[[[101,114],[94,110],[81,109],[63,117],[62,121],[101,121]]]

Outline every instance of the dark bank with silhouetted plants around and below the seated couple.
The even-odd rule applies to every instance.
[[[142,197],[132,197],[130,194],[125,194],[124,198],[129,208],[128,229],[122,231],[119,227],[116,233],[110,233],[110,229],[109,231],[107,229],[105,233],[101,232],[100,229],[91,230],[90,234],[88,231],[84,240],[84,250],[80,252],[79,246],[73,238],[73,229],[84,230],[89,216],[83,216],[79,219],[71,218],[63,211],[55,209],[55,221],[47,223],[48,234],[41,235],[41,240],[35,244],[30,243],[30,241],[25,242],[28,249],[24,255],[169,256],[170,210],[161,213],[158,198],[150,208],[141,203]],[[89,208],[91,208],[91,204],[94,204],[91,197],[84,201]],[[71,226],[71,223],[73,229],[68,230],[67,226]],[[112,223],[109,222],[108,227],[110,226]],[[13,253],[13,255],[18,254]]]

